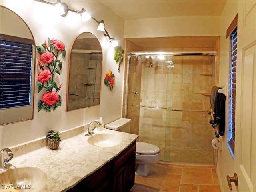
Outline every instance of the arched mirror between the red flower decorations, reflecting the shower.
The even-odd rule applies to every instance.
[[[70,52],[66,111],[100,104],[102,49],[91,33],[80,34]]]

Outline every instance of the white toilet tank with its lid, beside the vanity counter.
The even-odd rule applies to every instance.
[[[132,122],[131,119],[120,118],[109,124],[106,124],[105,128],[116,130],[116,131],[120,130],[121,132],[130,133],[131,122]]]

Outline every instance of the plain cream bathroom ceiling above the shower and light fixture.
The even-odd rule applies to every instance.
[[[100,0],[124,20],[221,16],[226,0]]]

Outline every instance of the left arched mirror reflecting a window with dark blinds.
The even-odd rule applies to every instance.
[[[1,125],[33,119],[34,38],[27,24],[0,6]]]

